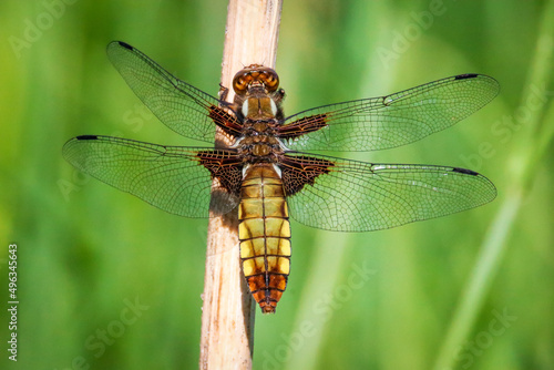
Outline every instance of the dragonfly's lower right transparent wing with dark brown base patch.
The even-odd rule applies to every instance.
[[[287,155],[280,164],[290,216],[307,226],[369,232],[491,202],[494,185],[469,169]],[[306,184],[306,185],[304,185]]]

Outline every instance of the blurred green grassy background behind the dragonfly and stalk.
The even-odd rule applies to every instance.
[[[226,7],[0,2],[0,289],[7,307],[17,243],[20,300],[17,364],[0,310],[1,368],[197,368],[207,220],[84,176],[61,147],[79,134],[198,144],[142,107],[105,47],[126,41],[216,94]],[[497,79],[499,97],[452,129],[338,155],[469,167],[499,196],[377,233],[293,222],[287,292],[275,316],[257,309],[255,369],[554,369],[553,29],[553,1],[285,3],[288,114],[459,73]]]

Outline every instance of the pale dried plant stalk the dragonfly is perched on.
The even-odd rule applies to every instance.
[[[253,63],[275,68],[283,0],[230,0],[222,85]],[[225,142],[220,133],[216,142]],[[202,314],[201,369],[250,369],[255,302],[239,264],[237,214],[209,219]]]

